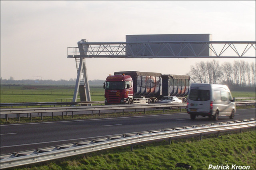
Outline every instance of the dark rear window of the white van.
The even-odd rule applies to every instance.
[[[190,90],[189,99],[196,101],[210,100],[210,90],[192,89]]]

